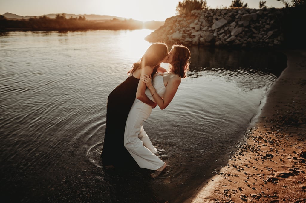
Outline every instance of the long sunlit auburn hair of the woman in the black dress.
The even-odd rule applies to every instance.
[[[151,44],[141,59],[138,62],[133,63],[132,69],[128,71],[128,74],[133,73],[137,69],[145,66],[154,67],[153,72],[157,72],[160,62],[167,56],[168,51],[168,46],[164,42],[156,42]]]

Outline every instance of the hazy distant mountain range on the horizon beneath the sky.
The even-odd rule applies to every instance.
[[[58,14],[62,14],[62,13],[58,13]],[[49,18],[55,18],[57,14],[48,14],[48,15],[44,15],[47,16]],[[86,20],[112,20],[114,18],[117,18],[118,20],[125,20],[127,18],[122,18],[122,17],[118,17],[118,16],[108,16],[108,15],[95,15],[95,14],[91,14],[91,15],[75,15],[75,14],[67,14],[65,13],[66,18],[78,18],[79,16],[84,16],[86,18]],[[9,20],[13,20],[13,19],[29,19],[29,18],[34,18],[34,17],[39,17],[39,16],[19,16],[17,14],[13,14],[13,13],[4,13],[3,16],[5,16],[7,19]],[[128,20],[128,19],[127,19]]]

